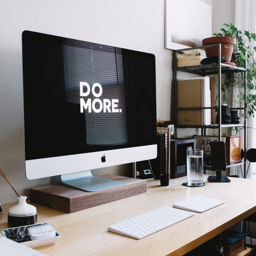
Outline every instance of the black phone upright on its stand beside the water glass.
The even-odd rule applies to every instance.
[[[226,171],[226,148],[223,141],[212,141],[211,148],[211,169],[216,172],[216,176],[209,176],[209,182],[230,182],[221,172]]]

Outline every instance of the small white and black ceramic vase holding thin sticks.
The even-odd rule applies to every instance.
[[[8,225],[10,227],[32,225],[37,222],[36,207],[26,202],[27,197],[18,197],[18,204],[8,211]]]

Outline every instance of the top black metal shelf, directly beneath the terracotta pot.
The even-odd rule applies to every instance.
[[[218,74],[219,65],[218,63],[212,63],[207,65],[177,67],[176,70],[194,73],[198,75],[214,75],[214,74]],[[236,66],[221,63],[221,73],[223,74],[245,72],[245,71],[246,71],[245,68],[238,68]]]

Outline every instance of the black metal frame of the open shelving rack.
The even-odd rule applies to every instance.
[[[207,46],[202,46],[199,48],[204,48],[204,47],[218,47],[218,56],[221,56],[221,44],[211,44],[211,45],[207,45]],[[186,110],[193,110],[193,109],[215,109],[218,112],[221,112],[221,75],[222,74],[231,74],[231,73],[238,73],[238,72],[242,72],[243,73],[243,90],[246,91],[247,89],[247,84],[246,84],[246,62],[244,62],[244,67],[237,67],[237,66],[233,66],[233,65],[228,65],[225,63],[220,63],[221,59],[220,57],[218,57],[218,60],[215,60],[215,62],[217,63],[211,63],[211,64],[206,64],[206,65],[194,65],[194,66],[184,66],[184,67],[177,67],[177,56],[178,56],[178,52],[181,51],[186,51],[186,50],[190,50],[191,48],[184,48],[184,49],[179,49],[179,50],[174,50],[173,51],[173,88],[172,88],[172,100],[173,100],[173,112],[172,112],[172,117],[174,119],[174,136],[179,137],[178,135],[178,128],[196,128],[196,129],[201,129],[201,135],[204,136],[206,135],[206,133],[208,132],[207,129],[216,129],[218,130],[218,140],[221,141],[221,134],[222,134],[222,129],[223,128],[229,128],[229,127],[241,127],[240,129],[244,128],[244,146],[243,149],[246,152],[246,139],[247,139],[247,130],[246,130],[246,122],[244,122],[243,124],[209,124],[209,125],[186,125],[186,122],[183,122],[183,125],[178,125],[178,111],[183,111],[185,112]],[[192,49],[197,49],[197,48],[193,48]],[[188,65],[188,63],[186,63],[186,65]],[[197,76],[211,76],[211,75],[217,75],[218,79],[215,78],[215,91],[216,91],[216,95],[218,95],[218,102],[217,102],[217,106],[216,101],[215,102],[211,102],[211,107],[209,107],[207,105],[207,107],[189,107],[189,108],[178,108],[178,90],[177,90],[177,78],[178,75],[177,73],[179,72],[187,72],[187,73],[191,73],[191,74],[196,74]],[[215,96],[216,96],[215,95]],[[246,95],[244,95],[245,97],[245,102],[246,102]],[[214,104],[215,103],[215,104]],[[247,111],[245,107],[240,107],[240,108],[230,108],[230,110],[244,110],[245,112]],[[213,111],[211,111],[212,113]],[[220,120],[221,120],[221,113],[220,113]],[[220,121],[221,122],[221,121]],[[242,122],[242,121],[241,121]],[[194,122],[194,123],[200,123],[200,122]],[[208,122],[210,123],[210,122]],[[242,146],[242,145],[241,145]],[[246,153],[244,154],[244,159],[243,162],[240,163],[236,163],[236,164],[230,164],[227,165],[227,168],[233,167],[233,166],[242,166],[243,165],[243,172],[244,175],[243,177],[246,178]],[[211,166],[204,166],[203,167],[204,170],[211,170]]]

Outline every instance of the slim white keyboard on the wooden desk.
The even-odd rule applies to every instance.
[[[109,226],[108,231],[141,239],[193,215],[194,213],[188,211],[164,206],[154,211]]]

